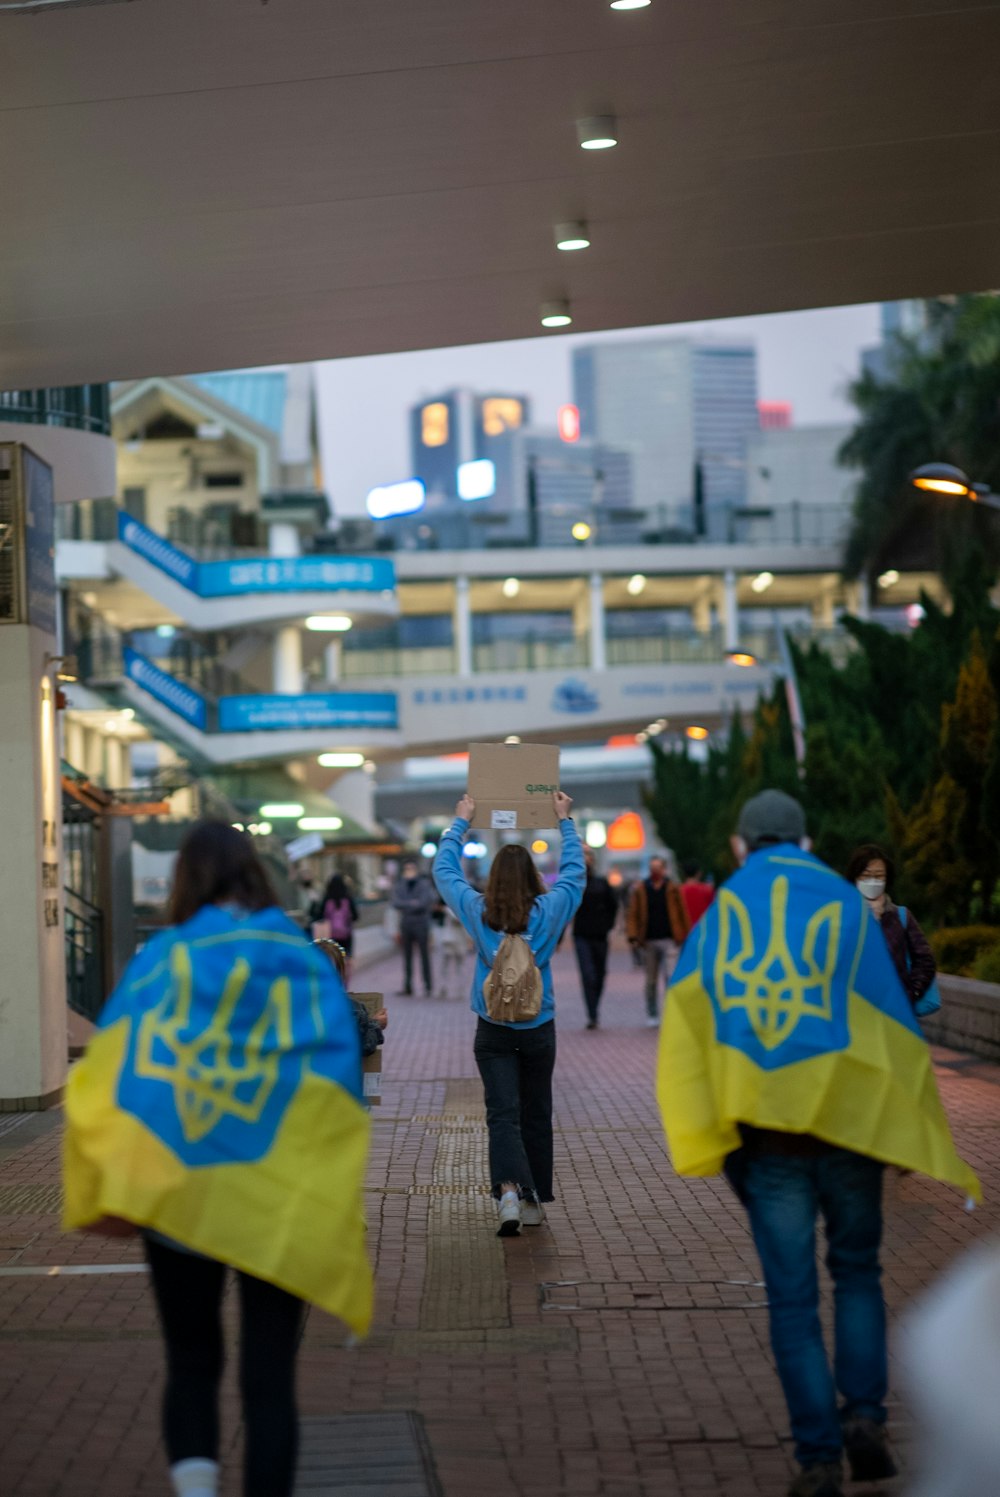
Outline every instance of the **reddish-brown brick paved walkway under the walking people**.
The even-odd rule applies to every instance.
[[[394,967],[365,973],[364,987],[380,978],[391,994]],[[615,952],[605,1027],[587,1033],[572,961],[557,960],[560,1201],[548,1228],[506,1243],[484,1192],[467,1007],[389,998],[368,1193],[374,1332],[349,1349],[313,1313],[301,1403],[314,1418],[419,1413],[445,1497],[784,1491],[792,1463],[756,1257],[725,1184],[671,1174],[639,990]],[[943,1187],[889,1183],[892,1311],[1000,1220],[1000,1069],[951,1052],[939,1061],[988,1204],[970,1217]],[[58,1129],[58,1114],[0,1118],[0,1490],[165,1494],[160,1347],[139,1253],[60,1235]],[[73,1272],[90,1265],[109,1271]],[[906,1458],[897,1403],[891,1418]],[[225,1446],[235,1494],[231,1380]]]

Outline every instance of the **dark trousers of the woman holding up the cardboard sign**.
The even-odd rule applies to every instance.
[[[513,1183],[522,1196],[552,1199],[552,1070],[555,1024],[476,1025],[476,1064],[487,1094],[493,1193]]]

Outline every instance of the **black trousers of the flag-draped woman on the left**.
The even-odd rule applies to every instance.
[[[219,1460],[219,1385],[225,1365],[225,1263],[145,1240],[153,1293],[166,1343],[163,1437],[171,1466]],[[298,1454],[295,1355],[302,1301],[237,1274],[240,1394],[247,1427],[244,1497],[290,1497]]]

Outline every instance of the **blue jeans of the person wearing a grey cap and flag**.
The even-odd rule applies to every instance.
[[[841,1419],[885,1424],[886,1316],[882,1298],[882,1171],[831,1148],[817,1157],[757,1153],[743,1166],[750,1228],[771,1307],[771,1349],[802,1466],[838,1461]],[[834,1280],[831,1373],[819,1323],[816,1217]],[[837,1409],[837,1394],[843,1403]]]

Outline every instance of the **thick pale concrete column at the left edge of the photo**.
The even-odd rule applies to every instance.
[[[43,1108],[66,1079],[63,807],[55,687],[45,656],[55,639],[27,624],[0,629],[0,1109]]]

